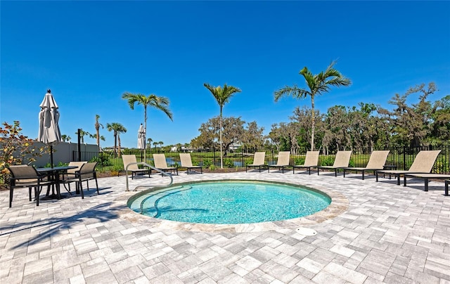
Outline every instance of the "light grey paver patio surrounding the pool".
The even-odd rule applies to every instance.
[[[16,190],[8,208],[2,191],[0,283],[450,283],[443,182],[425,192],[422,180],[404,187],[361,174],[249,171],[180,172],[174,183],[216,179],[303,184],[334,204],[308,218],[212,227],[131,212],[126,201],[136,192],[125,191],[124,176],[98,179],[100,195],[91,189],[84,200],[39,207],[27,190]],[[168,180],[152,175],[129,185]],[[302,235],[302,228],[317,234]]]

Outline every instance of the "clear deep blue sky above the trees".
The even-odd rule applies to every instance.
[[[143,107],[122,93],[167,96],[174,121],[148,110],[148,137],[189,143],[200,124],[219,115],[203,86],[242,89],[224,116],[288,122],[309,98],[274,102],[274,91],[335,67],[352,86],[316,97],[316,108],[387,102],[411,86],[435,82],[431,101],[450,94],[449,1],[0,1],[0,121],[19,120],[37,138],[39,104],[51,89],[60,131],[127,128],[122,146],[136,147]],[[412,98],[413,99],[413,98]],[[415,103],[415,101],[411,101]],[[113,133],[101,129],[113,146]],[[95,143],[85,138],[86,143]]]

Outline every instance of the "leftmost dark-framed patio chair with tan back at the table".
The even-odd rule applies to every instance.
[[[34,200],[36,200],[36,206],[39,206],[39,194],[41,193],[42,186],[53,186],[53,181],[49,175],[39,174],[36,169],[26,164],[18,164],[8,167],[11,176],[9,178],[9,207],[13,205],[13,193],[14,188],[28,188],[28,195],[30,201],[31,188],[34,188]]]

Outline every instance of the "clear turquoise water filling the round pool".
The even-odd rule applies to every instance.
[[[143,194],[129,207],[150,217],[201,224],[245,224],[304,217],[330,205],[324,193],[259,181],[172,186]]]

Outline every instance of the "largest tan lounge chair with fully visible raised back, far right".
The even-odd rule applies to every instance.
[[[435,164],[437,155],[441,150],[422,150],[420,151],[413,164],[407,171],[390,169],[380,170],[375,172],[375,180],[378,181],[378,174],[389,174],[397,177],[397,185],[400,185],[400,176],[404,174],[430,174],[433,164]]]

